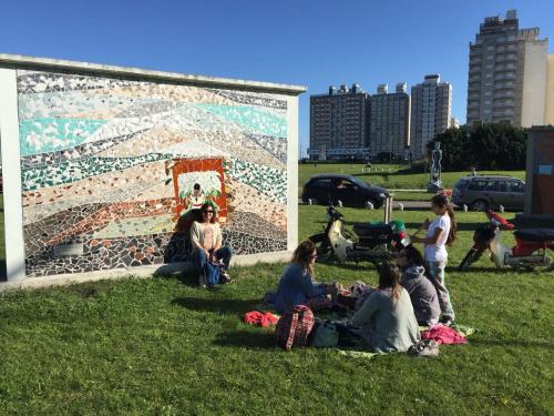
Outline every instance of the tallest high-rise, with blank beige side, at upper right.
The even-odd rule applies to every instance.
[[[468,123],[544,123],[547,42],[538,28],[520,30],[515,10],[485,18],[470,43]]]

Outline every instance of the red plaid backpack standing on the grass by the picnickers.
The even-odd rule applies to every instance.
[[[275,328],[277,346],[290,351],[293,346],[308,345],[314,321],[314,313],[306,305],[296,305],[283,314]]]

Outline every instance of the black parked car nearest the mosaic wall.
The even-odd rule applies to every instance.
[[[379,186],[372,186],[351,175],[319,174],[311,176],[302,189],[302,202],[312,204],[342,202],[345,206],[366,206],[371,202],[376,209],[380,207],[389,192]]]

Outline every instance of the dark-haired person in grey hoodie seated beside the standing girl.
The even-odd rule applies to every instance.
[[[441,307],[424,264],[423,256],[413,245],[403,247],[397,256],[397,265],[402,271],[401,284],[410,294],[418,324],[428,326],[439,322]]]

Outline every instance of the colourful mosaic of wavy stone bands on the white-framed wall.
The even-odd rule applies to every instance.
[[[235,254],[287,248],[285,95],[18,71],[28,276],[183,261],[198,183]]]

